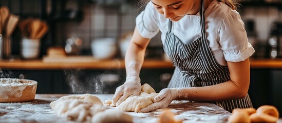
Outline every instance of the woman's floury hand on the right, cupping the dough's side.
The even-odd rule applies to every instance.
[[[160,108],[166,108],[171,104],[172,100],[177,97],[179,97],[179,89],[165,88],[154,98],[153,104],[141,109],[139,112],[149,112]]]

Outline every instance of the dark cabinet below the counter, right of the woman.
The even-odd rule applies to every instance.
[[[249,95],[254,108],[273,105],[282,113],[282,69],[251,69]]]

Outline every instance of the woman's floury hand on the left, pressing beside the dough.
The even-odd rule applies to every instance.
[[[141,92],[141,83],[139,76],[126,77],[123,85],[116,89],[112,104],[119,106],[128,96],[139,95]]]

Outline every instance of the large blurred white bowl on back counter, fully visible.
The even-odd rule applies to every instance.
[[[98,38],[91,42],[91,51],[97,59],[109,59],[117,53],[115,38]]]

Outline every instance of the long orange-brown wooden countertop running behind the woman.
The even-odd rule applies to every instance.
[[[282,59],[250,59],[250,67],[253,69],[270,68],[282,69]],[[0,60],[0,69],[124,69],[124,60],[110,59],[97,60],[90,56],[57,58],[57,59],[10,59]],[[174,68],[170,61],[162,59],[145,59],[143,69]]]

